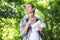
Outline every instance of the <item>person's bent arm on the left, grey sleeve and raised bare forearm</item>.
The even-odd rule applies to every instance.
[[[27,23],[24,23],[24,20],[20,21],[20,33],[21,33],[21,36],[24,37],[24,36],[27,35],[28,28],[29,28],[30,24],[32,23],[31,20],[32,19],[29,19]]]

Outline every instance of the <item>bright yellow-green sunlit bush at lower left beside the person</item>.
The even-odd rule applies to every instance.
[[[19,21],[14,18],[1,18],[0,37],[2,40],[21,40]]]

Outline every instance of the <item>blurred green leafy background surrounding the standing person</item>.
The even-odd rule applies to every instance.
[[[60,0],[0,0],[0,40],[22,40],[20,20],[25,3],[35,5],[35,15],[46,23],[43,40],[60,40]]]

